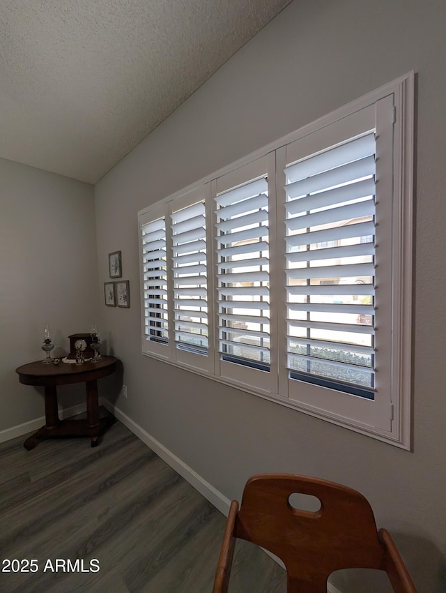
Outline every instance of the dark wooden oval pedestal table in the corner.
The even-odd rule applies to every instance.
[[[40,440],[63,437],[90,437],[91,446],[99,444],[99,437],[112,426],[115,419],[109,415],[99,416],[98,384],[101,377],[112,375],[116,370],[118,359],[114,356],[102,356],[98,363],[82,364],[59,363],[43,364],[42,361],[31,362],[16,368],[20,383],[40,385],[45,388],[45,426],[27,438],[23,446],[34,449]],[[72,383],[85,383],[86,386],[86,419],[59,419],[57,408],[57,386]]]

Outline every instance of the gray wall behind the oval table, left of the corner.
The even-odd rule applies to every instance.
[[[98,313],[93,186],[0,159],[0,432],[43,416],[43,390],[19,383],[15,368],[45,358],[89,331]],[[79,386],[59,389],[79,401]]]

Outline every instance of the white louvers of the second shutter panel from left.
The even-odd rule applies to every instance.
[[[208,278],[204,202],[174,212],[174,318],[176,347],[208,355]]]

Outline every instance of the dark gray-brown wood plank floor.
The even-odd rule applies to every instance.
[[[26,451],[25,438],[0,444],[1,593],[212,591],[224,516],[125,426],[95,449],[69,439]],[[38,571],[4,572],[25,559]],[[55,572],[56,559],[75,572]],[[285,589],[270,557],[237,544],[231,593]]]

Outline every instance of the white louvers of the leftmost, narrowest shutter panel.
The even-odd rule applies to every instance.
[[[144,332],[146,340],[168,343],[166,221],[142,225]]]

